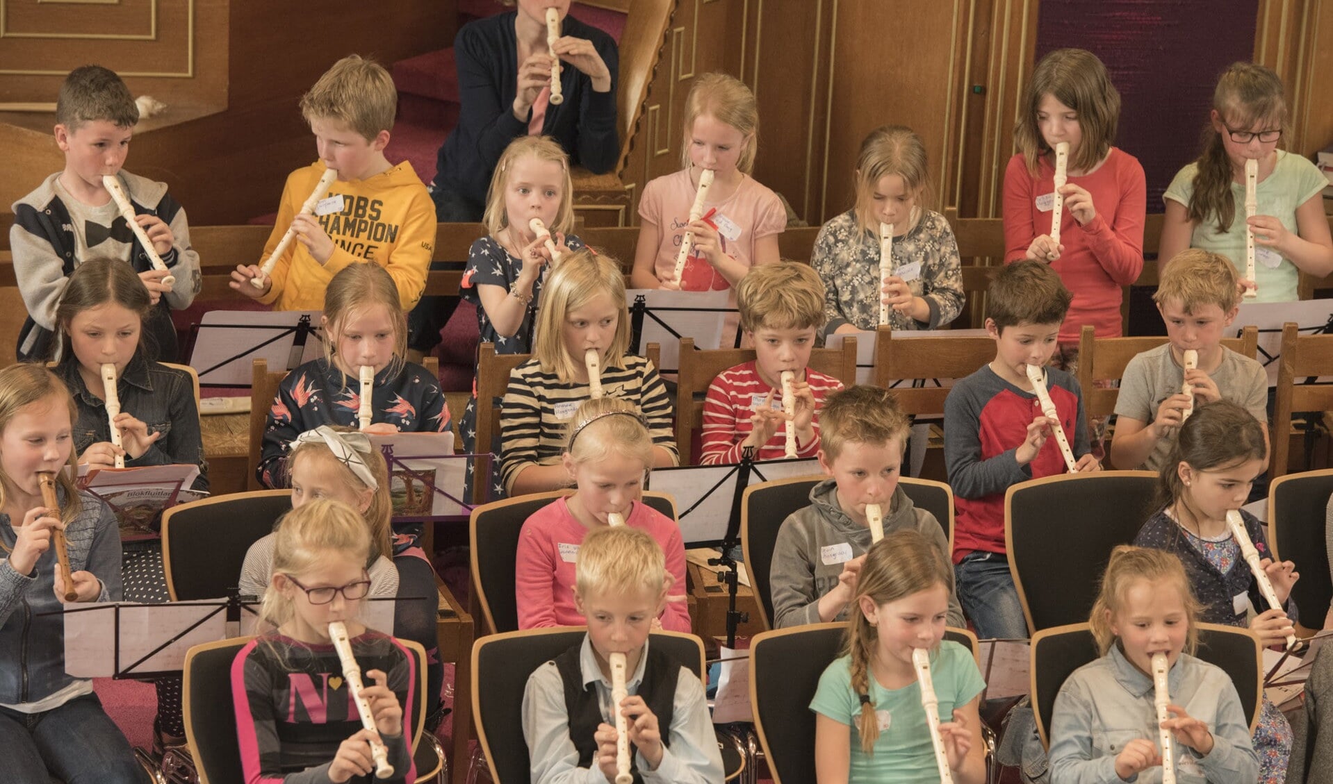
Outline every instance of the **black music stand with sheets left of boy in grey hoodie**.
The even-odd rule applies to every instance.
[[[741,543],[741,502],[745,489],[757,482],[822,474],[814,458],[754,461],[754,447],[745,447],[741,462],[721,466],[677,466],[653,469],[647,489],[676,499],[680,534],[685,547],[721,547],[721,555],[708,559],[725,568],[717,579],[726,584],[726,647],[736,647],[736,627],[749,620],[736,610],[740,571],[732,550]]]

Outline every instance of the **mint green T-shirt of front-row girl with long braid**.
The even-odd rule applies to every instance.
[[[953,709],[972,701],[986,686],[972,652],[952,640],[941,642],[940,650],[930,656],[930,679],[940,700],[941,721],[952,720]],[[850,656],[842,656],[824,670],[820,687],[810,700],[810,709],[816,713],[852,727],[848,780],[852,784],[937,781],[940,773],[926,731],[920,684],[913,682],[898,689],[886,689],[872,676],[870,700],[880,717],[880,737],[874,743],[873,755],[861,751],[861,733],[856,728],[861,699],[852,691]],[[981,739],[974,739],[973,743],[981,743]]]

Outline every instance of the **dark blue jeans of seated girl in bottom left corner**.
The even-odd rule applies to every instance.
[[[84,695],[44,713],[0,708],[0,748],[9,784],[143,784],[144,769],[129,741],[101,708]],[[49,771],[49,773],[48,773]]]

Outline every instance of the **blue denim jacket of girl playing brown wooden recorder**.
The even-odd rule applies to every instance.
[[[56,487],[64,506],[64,489]],[[120,590],[120,528],[111,507],[91,492],[79,494],[83,508],[65,527],[71,571],[89,571],[101,580],[97,602],[117,602]],[[17,532],[0,514],[0,704],[35,703],[73,683],[65,675],[65,626],[55,594],[56,552],[48,550],[32,572],[9,566]]]

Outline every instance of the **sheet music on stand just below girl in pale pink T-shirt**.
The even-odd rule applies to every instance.
[[[648,343],[661,345],[661,367],[659,373],[680,370],[680,338],[694,338],[694,347],[713,350],[724,347],[722,325],[734,307],[728,307],[729,292],[672,292],[668,289],[628,289],[625,302],[631,307],[635,299],[644,298],[648,313],[644,314],[644,329],[637,346],[631,351],[643,355]],[[732,335],[734,339],[736,335]],[[728,342],[725,347],[732,347]]]

